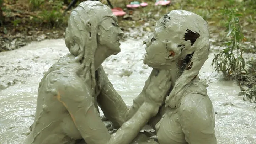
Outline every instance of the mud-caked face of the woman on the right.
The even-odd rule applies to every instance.
[[[156,27],[155,32],[143,43],[146,44],[144,64],[159,69],[171,69],[176,65],[184,45],[178,42],[180,39],[170,40],[170,37],[172,37],[170,33]]]

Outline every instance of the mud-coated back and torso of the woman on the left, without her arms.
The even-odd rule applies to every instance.
[[[78,76],[79,70],[80,63],[76,62],[73,55],[67,54],[44,75],[39,84],[35,120],[23,144],[74,144],[77,139],[82,139],[73,117],[60,98],[61,90],[71,87],[74,91],[70,92],[70,100],[79,99],[75,90],[86,87],[86,83]],[[91,94],[92,102],[88,103],[88,107],[94,105],[98,110],[97,95],[108,81],[102,66],[95,72],[95,77],[96,90]]]

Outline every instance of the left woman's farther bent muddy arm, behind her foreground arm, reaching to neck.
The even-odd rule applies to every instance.
[[[116,128],[119,128],[125,121],[132,118],[132,116],[138,111],[140,106],[147,101],[148,103],[155,103],[152,100],[153,97],[159,97],[159,95],[164,91],[169,90],[170,84],[166,84],[166,89],[164,91],[158,89],[160,81],[168,79],[167,77],[161,77],[157,79],[151,79],[153,76],[155,77],[158,75],[159,71],[153,69],[149,78],[146,80],[143,90],[140,94],[134,98],[133,104],[130,108],[127,108],[126,104],[124,103],[122,97],[116,92],[112,84],[109,82],[107,75],[105,74],[103,68],[101,67],[101,78],[105,81],[106,85],[103,87],[100,95],[98,96],[98,104],[101,107],[104,115],[113,122]],[[169,76],[170,77],[170,76]],[[150,87],[149,87],[149,84]],[[169,85],[169,87],[168,87]],[[162,87],[163,88],[163,87]],[[154,91],[154,95],[151,91],[149,94],[146,94],[146,90],[149,89]],[[147,95],[147,96],[146,96]],[[162,102],[162,101],[161,101]],[[160,105],[159,105],[160,106]]]

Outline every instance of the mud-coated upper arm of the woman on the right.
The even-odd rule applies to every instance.
[[[200,94],[189,94],[182,101],[178,113],[188,144],[217,144],[210,99]]]

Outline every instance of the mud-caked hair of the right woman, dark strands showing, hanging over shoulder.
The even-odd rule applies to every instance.
[[[181,62],[179,67],[181,75],[176,80],[165,101],[166,106],[177,108],[187,87],[197,77],[204,62],[208,59],[210,49],[209,30],[206,21],[192,12],[173,10],[167,15],[171,21],[165,22],[166,31],[172,34],[176,33],[176,37],[183,37],[180,40],[180,45],[178,45],[181,51],[180,57],[178,57],[178,61]],[[175,27],[175,29],[172,27]],[[185,46],[185,48],[182,46]]]

